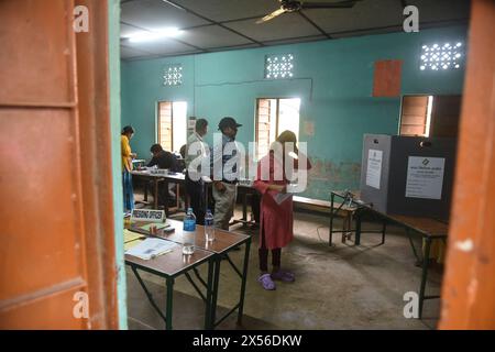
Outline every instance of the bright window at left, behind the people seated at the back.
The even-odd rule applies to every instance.
[[[178,153],[187,143],[187,102],[160,101],[157,110],[157,143],[165,151]]]

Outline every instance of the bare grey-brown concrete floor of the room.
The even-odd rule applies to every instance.
[[[240,218],[240,208],[237,218]],[[339,227],[337,222],[336,227]],[[365,224],[364,229],[377,224]],[[253,234],[246,283],[244,317],[237,324],[232,315],[218,329],[435,329],[440,300],[426,300],[424,319],[406,319],[404,294],[418,292],[421,270],[408,239],[400,228],[389,227],[386,242],[377,245],[381,234],[364,233],[359,248],[334,237],[328,246],[328,217],[295,213],[295,240],[283,250],[283,267],[296,274],[295,283],[278,283],[274,292],[257,283],[257,231],[231,230]],[[416,241],[420,249],[420,241]],[[231,252],[241,267],[244,251]],[[200,267],[206,277],[206,265]],[[440,292],[442,267],[430,267],[427,294]],[[143,278],[158,305],[165,307],[163,278],[143,273]],[[239,297],[240,279],[226,261],[221,266],[219,315],[233,307]],[[183,276],[176,279],[174,329],[202,329],[204,305]],[[128,268],[128,315],[130,329],[163,329],[164,322],[150,305],[144,292]]]

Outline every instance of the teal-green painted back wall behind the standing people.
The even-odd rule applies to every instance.
[[[374,63],[402,59],[403,94],[460,94],[463,70],[420,72],[424,43],[464,41],[466,29],[453,26],[419,33],[393,33],[266,48],[172,58],[122,62],[122,123],[136,128],[131,144],[148,157],[155,142],[158,100],[186,100],[188,113],[207,118],[210,132],[223,116],[244,124],[238,140],[254,140],[255,99],[300,97],[300,141],[308,142],[314,161],[306,196],[327,199],[330,189],[356,189],[364,133],[396,134],[400,98],[373,98]],[[266,80],[267,54],[292,53],[294,79]],[[163,68],[182,64],[178,87],[162,85]],[[315,134],[305,134],[305,123]],[[212,142],[211,134],[207,139]]]

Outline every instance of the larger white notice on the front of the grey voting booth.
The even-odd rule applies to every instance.
[[[406,197],[441,199],[444,157],[409,156]]]

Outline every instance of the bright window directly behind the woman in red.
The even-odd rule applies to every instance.
[[[256,157],[265,156],[270,145],[285,130],[293,131],[299,139],[299,98],[257,99],[256,109]]]

